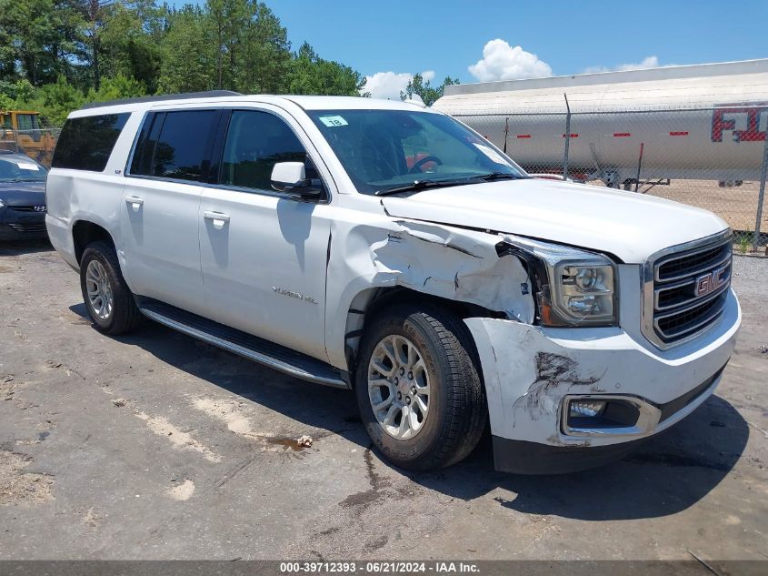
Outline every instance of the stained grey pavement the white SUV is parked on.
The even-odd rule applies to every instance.
[[[515,477],[486,441],[404,474],[352,394],[158,325],[102,336],[50,247],[0,247],[0,559],[768,558],[768,260],[735,271],[716,396],[632,457]]]

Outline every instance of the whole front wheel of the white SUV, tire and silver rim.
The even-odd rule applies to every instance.
[[[365,429],[388,460],[431,470],[463,460],[487,419],[474,342],[461,318],[398,305],[366,328],[355,390]]]

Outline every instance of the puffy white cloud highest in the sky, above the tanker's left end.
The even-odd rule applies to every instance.
[[[501,38],[488,42],[483,58],[467,69],[481,82],[552,76],[552,67],[539,56],[525,52],[521,46],[512,47]]]

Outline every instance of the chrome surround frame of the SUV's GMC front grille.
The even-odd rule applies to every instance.
[[[674,340],[673,342],[664,342],[663,339],[661,339],[656,333],[656,330],[654,328],[654,318],[653,318],[653,307],[655,304],[655,289],[656,289],[656,287],[654,286],[654,283],[656,281],[656,264],[658,263],[658,261],[663,258],[672,256],[674,254],[696,250],[697,248],[703,248],[703,249],[706,249],[709,247],[714,248],[718,244],[725,244],[726,242],[733,242],[733,231],[731,230],[731,228],[726,228],[722,232],[718,232],[711,236],[699,238],[697,240],[693,240],[692,242],[685,242],[683,244],[678,244],[670,248],[664,248],[663,250],[659,250],[658,252],[653,253],[645,261],[645,263],[643,264],[642,277],[641,277],[641,294],[643,297],[643,302],[641,302],[640,330],[643,333],[643,336],[646,339],[648,339],[648,341],[651,342],[655,348],[660,350],[667,350],[667,349],[672,349],[672,348],[681,346],[686,342],[690,342],[691,340],[701,336],[704,332],[707,331],[707,329],[712,327],[716,319],[716,318],[712,319],[709,326],[698,329],[698,330],[694,330],[691,334],[683,337],[682,339],[677,339],[677,340]],[[731,257],[729,256],[729,258]],[[723,263],[724,263],[724,260],[723,260]],[[713,265],[705,269],[716,268],[719,265],[722,265],[722,264]],[[701,273],[702,272],[699,272],[699,274]],[[665,278],[664,281],[672,282],[673,279],[675,278]],[[729,273],[728,288],[726,288],[726,290],[730,288],[730,284],[731,283],[730,283],[730,273]],[[723,290],[718,291],[718,294],[722,294],[722,293],[723,293]],[[710,295],[707,295],[707,296],[710,296]],[[706,300],[702,298],[700,301],[696,302],[696,305],[704,304],[705,302]]]

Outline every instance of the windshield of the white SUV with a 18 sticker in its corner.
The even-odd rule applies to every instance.
[[[381,194],[414,182],[525,177],[498,148],[450,116],[419,110],[311,110],[358,191]]]

